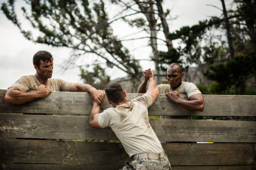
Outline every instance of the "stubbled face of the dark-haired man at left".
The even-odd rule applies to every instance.
[[[42,61],[40,60],[39,68],[36,66],[36,71],[42,78],[51,78],[53,70],[53,60]]]

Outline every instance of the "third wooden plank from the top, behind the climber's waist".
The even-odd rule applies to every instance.
[[[124,165],[121,143],[0,139],[0,162]],[[163,143],[171,165],[256,165],[255,143]]]

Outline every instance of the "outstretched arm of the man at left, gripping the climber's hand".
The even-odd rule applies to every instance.
[[[97,90],[92,85],[88,84],[79,84],[79,83],[71,83],[70,92],[90,92],[92,101],[95,100],[98,104],[103,102],[104,96],[100,93],[100,90]]]

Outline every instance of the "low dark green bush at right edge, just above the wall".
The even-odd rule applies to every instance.
[[[256,53],[237,55],[225,63],[210,65],[204,75],[218,83],[216,92],[233,88],[237,95],[243,95],[246,92],[246,80],[256,75]]]

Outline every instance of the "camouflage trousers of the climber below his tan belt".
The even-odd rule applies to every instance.
[[[120,170],[171,170],[171,165],[167,156],[154,159],[138,159],[131,163],[126,161],[126,165]]]

